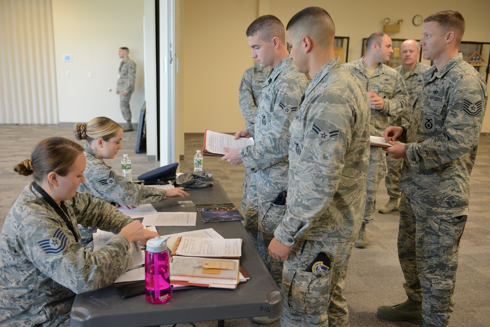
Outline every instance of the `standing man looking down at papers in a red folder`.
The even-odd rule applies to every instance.
[[[255,121],[255,144],[241,149],[225,149],[228,154],[221,160],[232,164],[244,163],[253,172],[252,184],[257,187],[259,205],[259,253],[270,269],[276,284],[282,281],[282,262],[269,256],[267,247],[274,230],[286,211],[284,192],[288,188],[289,126],[296,116],[298,105],[308,80],[296,70],[289,59],[286,32],[281,21],[264,15],[253,21],[246,30],[252,58],[260,67],[271,66],[262,87]],[[250,137],[247,130],[236,137]],[[281,201],[275,201],[278,196]]]

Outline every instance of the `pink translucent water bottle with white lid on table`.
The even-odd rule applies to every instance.
[[[170,261],[167,240],[170,236],[147,241],[145,255],[145,290],[147,301],[164,303],[170,300]]]

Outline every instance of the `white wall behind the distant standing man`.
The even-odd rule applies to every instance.
[[[145,101],[144,1],[52,0],[52,10],[59,121],[86,122],[106,116],[124,122],[116,83],[118,50],[128,47],[137,67],[130,106],[132,121],[138,122]],[[63,54],[71,54],[73,61],[63,62]]]

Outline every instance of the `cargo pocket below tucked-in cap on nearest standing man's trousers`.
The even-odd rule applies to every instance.
[[[288,292],[288,305],[294,312],[321,316],[330,297],[330,271],[311,273],[296,269]]]

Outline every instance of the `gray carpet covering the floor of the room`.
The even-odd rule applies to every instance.
[[[28,158],[35,144],[49,136],[64,136],[74,140],[69,126],[0,126],[0,227],[13,202],[30,177],[16,174],[12,169]],[[158,163],[146,162],[146,154],[135,154],[136,132],[124,133],[123,150],[118,158],[106,161],[116,171],[123,157],[129,154],[133,164],[133,177],[156,168]],[[83,142],[80,142],[83,144]],[[202,148],[202,137],[186,137],[185,160],[180,162],[181,172],[192,171],[192,159]],[[242,200],[243,166],[232,166],[220,158],[205,157],[204,169],[220,180],[230,200],[239,205]],[[454,314],[449,326],[490,326],[490,137],[482,136],[476,164],[471,175],[470,215],[461,241],[460,264],[457,274]],[[388,201],[386,188],[378,191],[378,205]],[[349,303],[350,326],[353,327],[410,327],[409,323],[392,323],[376,316],[379,305],[405,301],[402,289],[403,277],[396,255],[398,212],[375,213],[374,222],[367,227],[369,246],[354,249],[345,285],[345,297]],[[253,278],[253,276],[252,276]],[[251,318],[227,320],[226,326],[256,327]],[[171,325],[169,325],[170,327]],[[179,327],[191,326],[179,324]],[[198,327],[217,326],[217,322],[199,322]],[[280,326],[279,323],[270,325]]]

